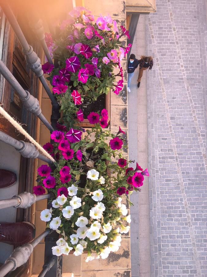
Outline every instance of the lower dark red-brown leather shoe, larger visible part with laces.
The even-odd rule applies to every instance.
[[[35,226],[30,222],[0,222],[0,242],[19,246],[35,238]]]

